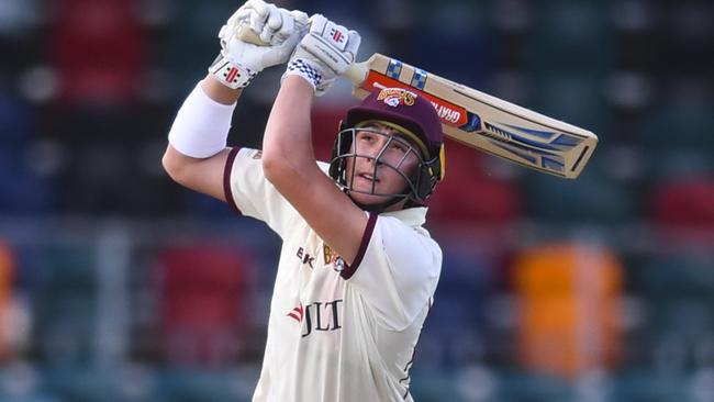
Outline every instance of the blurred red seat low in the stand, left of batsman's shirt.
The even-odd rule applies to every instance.
[[[191,245],[158,258],[160,327],[172,362],[234,360],[249,330],[249,256],[227,246]]]

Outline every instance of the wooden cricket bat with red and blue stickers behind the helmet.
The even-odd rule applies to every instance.
[[[447,137],[558,177],[577,178],[598,145],[590,131],[381,54],[354,64],[345,76],[360,99],[390,87],[422,94],[436,109]]]

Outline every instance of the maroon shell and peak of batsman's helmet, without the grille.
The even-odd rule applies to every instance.
[[[402,88],[384,88],[350,108],[344,123],[354,127],[368,120],[383,120],[414,133],[428,149],[424,159],[439,156],[444,143],[442,122],[432,102],[423,96]]]

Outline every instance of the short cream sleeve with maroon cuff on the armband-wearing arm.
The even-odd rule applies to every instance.
[[[258,149],[233,148],[223,172],[226,202],[243,215],[265,222],[285,237],[300,220],[298,211],[266,179]]]

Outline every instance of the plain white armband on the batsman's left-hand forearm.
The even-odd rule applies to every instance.
[[[226,146],[233,104],[222,104],[211,99],[201,82],[186,98],[168,133],[168,142],[186,156],[208,158]]]

